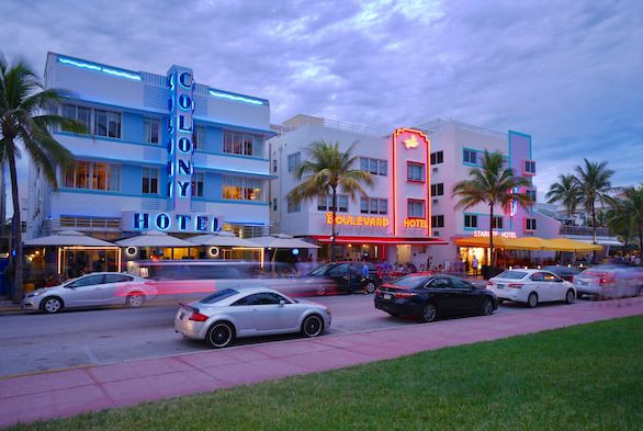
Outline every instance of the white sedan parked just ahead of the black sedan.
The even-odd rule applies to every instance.
[[[542,270],[510,270],[490,279],[487,288],[498,302],[511,300],[535,307],[539,303],[564,300],[573,304],[574,285],[560,276]]]

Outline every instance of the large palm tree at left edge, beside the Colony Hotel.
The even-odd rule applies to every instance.
[[[42,169],[54,189],[56,165],[71,160],[71,154],[49,133],[52,127],[65,127],[83,133],[84,126],[76,121],[48,113],[61,101],[63,92],[43,89],[38,77],[22,61],[10,65],[0,55],[0,162],[9,166],[11,197],[13,201],[12,271],[14,299],[22,297],[22,232],[20,199],[18,195],[16,159],[26,151],[33,163]]]

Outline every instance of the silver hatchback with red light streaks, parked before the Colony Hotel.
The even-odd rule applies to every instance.
[[[38,288],[22,298],[25,310],[58,313],[64,308],[125,305],[140,307],[157,292],[145,280],[119,272],[93,272],[58,286]]]

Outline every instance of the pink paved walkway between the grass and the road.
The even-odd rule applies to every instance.
[[[0,427],[640,314],[643,314],[643,298],[582,302],[531,313],[453,319],[10,377],[0,379]]]

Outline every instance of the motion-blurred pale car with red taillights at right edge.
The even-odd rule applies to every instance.
[[[578,297],[620,298],[643,294],[643,272],[627,265],[597,265],[574,277]]]

